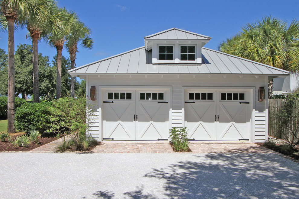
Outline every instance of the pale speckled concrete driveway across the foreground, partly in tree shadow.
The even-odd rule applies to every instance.
[[[275,153],[1,153],[1,198],[298,198]]]

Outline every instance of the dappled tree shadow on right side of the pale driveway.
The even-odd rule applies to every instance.
[[[162,198],[298,198],[298,173],[297,163],[271,153],[208,153],[153,168],[143,177],[163,180]],[[141,178],[138,186],[146,189],[142,183]],[[143,192],[137,187],[124,198],[161,198]],[[94,195],[114,198],[112,191]]]

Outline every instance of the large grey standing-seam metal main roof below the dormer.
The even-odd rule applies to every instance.
[[[288,75],[291,72],[212,49],[202,48],[201,65],[146,63],[145,47],[133,49],[69,70],[79,74],[255,74]]]

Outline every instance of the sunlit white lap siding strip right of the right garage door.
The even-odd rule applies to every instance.
[[[265,142],[266,139],[266,112],[256,111],[254,114],[255,142]]]

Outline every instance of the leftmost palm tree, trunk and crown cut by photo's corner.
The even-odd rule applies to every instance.
[[[24,23],[28,8],[35,1],[27,0],[1,0],[0,26],[1,30],[8,31],[8,97],[7,97],[7,132],[14,133],[14,29]]]

